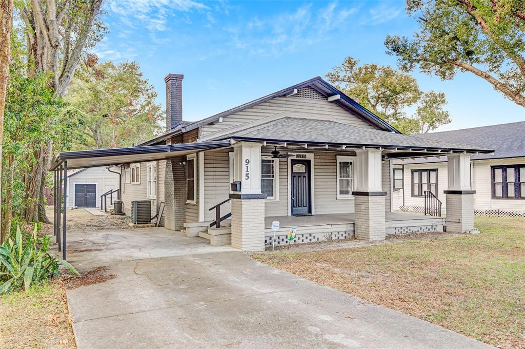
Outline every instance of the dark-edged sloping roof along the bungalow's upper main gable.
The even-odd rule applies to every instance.
[[[346,110],[352,111],[356,116],[360,117],[361,119],[369,122],[369,124],[372,124],[380,129],[392,131],[395,133],[400,134],[401,132],[395,129],[392,125],[388,124],[385,120],[381,119],[379,116],[375,115],[372,111],[366,109],[362,105],[360,105],[358,102],[350,98],[349,96],[346,96],[344,93],[342,93],[339,89],[335,88],[331,84],[329,84],[327,81],[323,80],[320,76],[316,76],[314,78],[308,79],[306,81],[302,81],[302,83],[284,88],[282,90],[279,90],[277,92],[274,92],[272,94],[266,95],[264,97],[260,97],[258,99],[249,101],[245,104],[241,104],[240,106],[237,106],[232,109],[228,109],[223,112],[219,112],[219,114],[215,114],[213,116],[207,117],[205,119],[195,121],[190,123],[189,125],[181,125],[178,126],[176,129],[172,129],[169,132],[166,132],[164,135],[159,136],[157,138],[154,138],[152,140],[146,141],[139,146],[148,146],[153,145],[156,142],[165,140],[169,137],[175,136],[182,132],[191,131],[193,129],[196,129],[200,126],[204,126],[206,124],[209,124],[211,122],[215,122],[219,120],[220,118],[226,117],[228,115],[235,114],[236,112],[242,111],[244,109],[259,105],[263,102],[266,102],[270,99],[277,98],[277,97],[284,97],[289,94],[292,94],[295,90],[298,90],[302,87],[311,86],[312,88],[319,91],[324,96],[330,97],[339,95],[340,98],[337,100],[334,100],[334,103],[337,103],[341,107],[345,108]]]

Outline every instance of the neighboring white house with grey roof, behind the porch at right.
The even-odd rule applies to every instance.
[[[525,215],[525,121],[510,124],[433,132],[425,139],[461,142],[494,149],[471,157],[474,212],[480,215]],[[393,160],[393,210],[423,211],[423,191],[443,201],[448,186],[446,157]]]

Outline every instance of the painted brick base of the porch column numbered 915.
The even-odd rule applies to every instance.
[[[232,198],[232,247],[264,251],[265,200]]]

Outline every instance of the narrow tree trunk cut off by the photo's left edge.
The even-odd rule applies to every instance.
[[[0,3],[0,179],[2,178],[2,145],[4,143],[4,111],[7,80],[9,79],[9,58],[11,23],[13,21],[13,0],[2,0]],[[2,181],[0,180],[0,197],[2,197]],[[0,201],[0,220],[2,220],[2,205]],[[0,238],[8,231],[2,229],[4,224],[0,221]],[[2,239],[2,242],[4,240]]]

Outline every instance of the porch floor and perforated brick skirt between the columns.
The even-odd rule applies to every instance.
[[[307,216],[282,215],[265,217],[265,245],[271,245],[274,231],[273,221],[279,221],[276,232],[276,245],[287,243],[287,235],[292,226],[297,227],[294,243],[319,242],[327,240],[350,239],[354,237],[354,213],[328,213]],[[445,224],[444,217],[404,212],[385,212],[386,234],[406,234],[413,232],[440,232]]]

